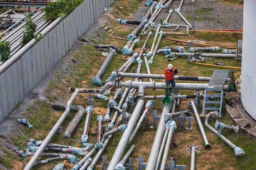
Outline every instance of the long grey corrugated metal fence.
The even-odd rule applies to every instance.
[[[0,75],[0,122],[115,0],[84,0]]]

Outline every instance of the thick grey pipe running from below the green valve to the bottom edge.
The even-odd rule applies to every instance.
[[[165,131],[165,124],[166,121],[164,119],[164,114],[169,113],[172,110],[172,107],[170,104],[164,104],[162,106],[162,115],[158,123],[157,132],[155,134],[155,139],[153,141],[153,146],[150,151],[150,155],[148,157],[148,162],[145,170],[155,170],[155,166],[157,163],[157,157],[158,155],[156,153],[159,152],[162,139],[164,137],[164,131]]]

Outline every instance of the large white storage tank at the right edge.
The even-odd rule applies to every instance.
[[[256,0],[244,0],[241,101],[256,119]]]

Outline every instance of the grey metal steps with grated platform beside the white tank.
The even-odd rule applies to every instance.
[[[223,86],[227,78],[228,70],[214,70],[207,88],[204,89],[204,103],[202,115],[205,110],[218,110],[219,116],[221,115],[221,108],[223,102]],[[213,100],[209,100],[213,97]],[[210,105],[211,104],[211,105]],[[212,106],[214,105],[214,106]]]

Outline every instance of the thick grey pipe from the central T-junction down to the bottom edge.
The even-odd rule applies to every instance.
[[[135,124],[137,123],[137,119],[140,115],[140,112],[143,108],[145,104],[145,99],[143,97],[139,97],[137,99],[137,104],[132,112],[132,115],[130,117],[130,120],[128,121],[128,127],[126,128],[126,130],[124,130],[124,133],[117,145],[117,148],[112,156],[112,159],[108,165],[108,169],[107,170],[113,170],[115,169],[115,166],[117,166],[117,164],[120,161],[120,158],[122,157],[124,150],[126,148],[126,145],[128,144],[128,138],[130,137]]]

